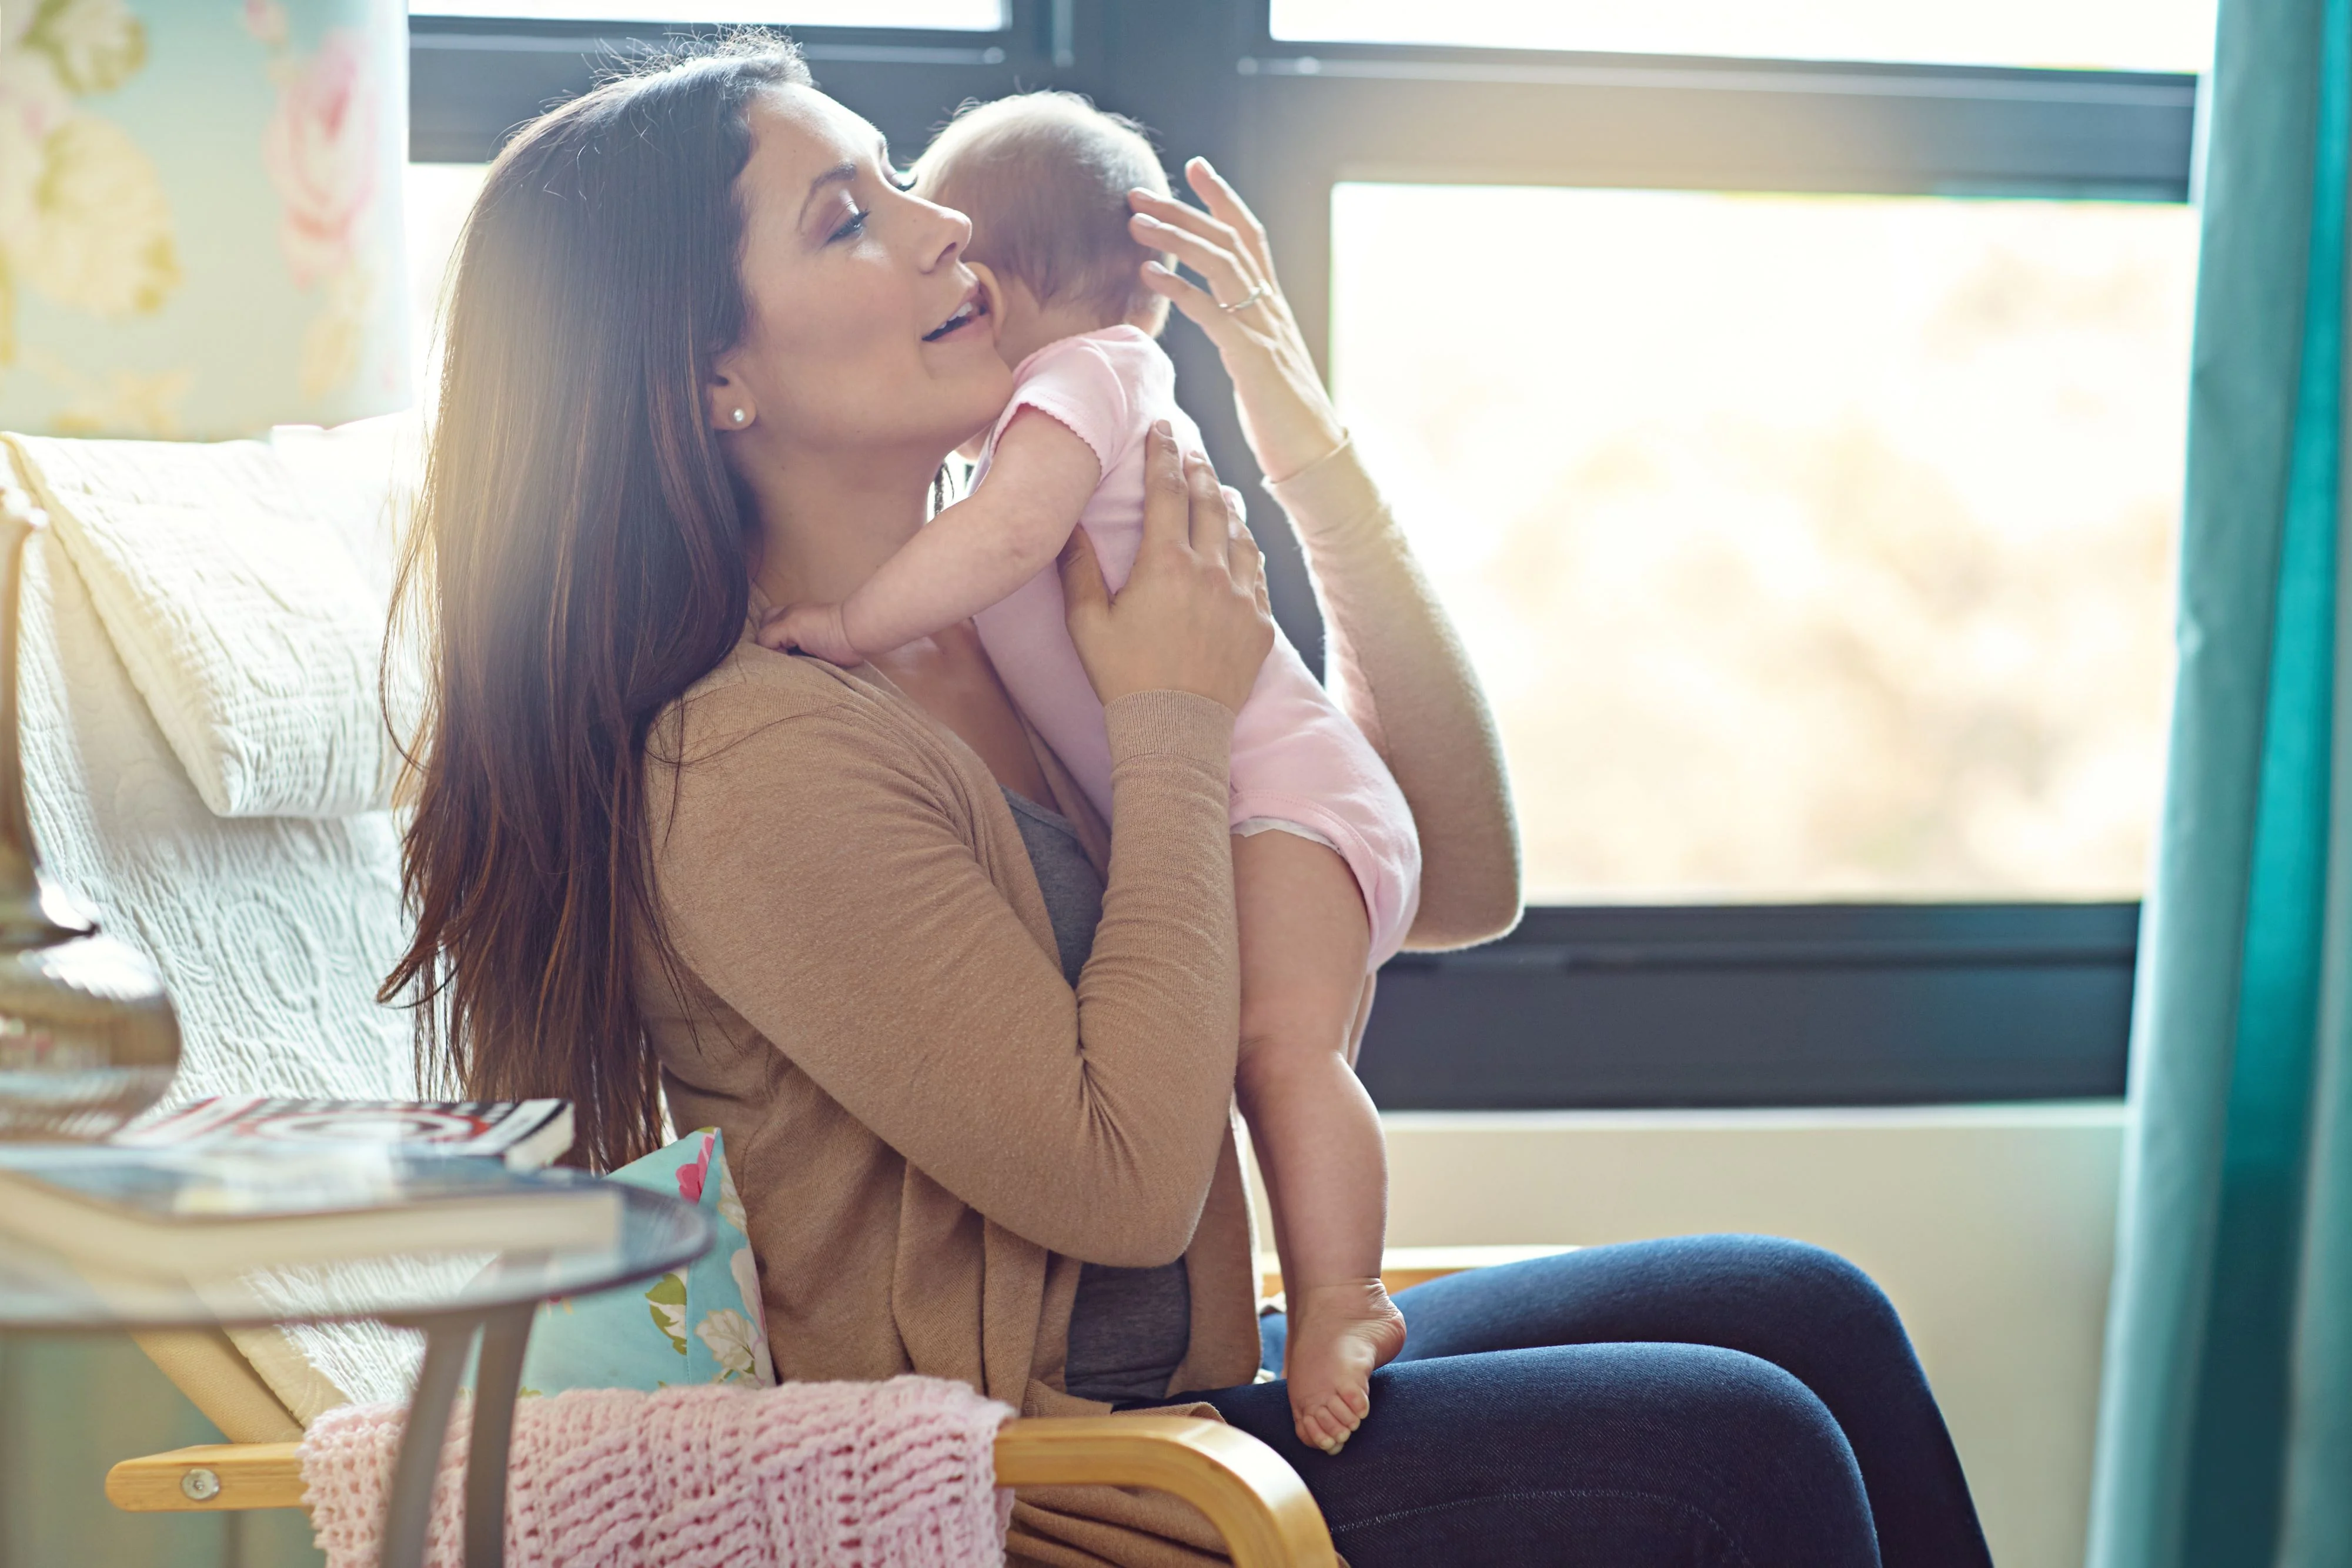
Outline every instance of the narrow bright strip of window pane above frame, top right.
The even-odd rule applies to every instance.
[[[1296,42],[2204,71],[2213,0],[1272,0]]]

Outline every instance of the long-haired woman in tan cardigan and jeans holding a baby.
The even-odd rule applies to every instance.
[[[1315,562],[1334,668],[1423,837],[1418,945],[1501,933],[1517,863],[1484,703],[1345,444],[1263,235],[1136,235],[1218,343]],[[1117,832],[969,628],[858,670],[757,649],[927,515],[1007,371],[957,327],[969,226],[781,47],[607,85],[506,150],[452,303],[426,529],[435,710],[388,990],[475,1095],[567,1093],[626,1161],[717,1124],[786,1378],[960,1378],[1023,1413],[1174,1403],[1272,1443],[1359,1568],[1983,1563],[1903,1328],[1764,1239],[1592,1248],[1399,1295],[1404,1359],[1329,1458],[1261,1345],[1230,1131],[1232,708],[1270,646],[1214,475],[1152,454],[1117,599],[1084,536],[1070,635]],[[442,1018],[435,1027],[433,1020]],[[1141,1387],[1148,1399],[1120,1399]],[[1087,1399],[1094,1394],[1094,1399]],[[1016,1556],[1192,1563],[1157,1495],[1025,1495]]]

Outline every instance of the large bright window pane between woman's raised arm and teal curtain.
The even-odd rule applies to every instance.
[[[2107,898],[2171,682],[2187,207],[1343,183],[1341,411],[1534,900]]]

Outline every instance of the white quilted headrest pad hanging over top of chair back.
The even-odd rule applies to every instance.
[[[259,442],[9,437],[214,816],[390,804],[383,604]]]

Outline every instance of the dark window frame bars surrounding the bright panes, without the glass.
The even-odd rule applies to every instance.
[[[412,158],[470,162],[666,24],[412,19]],[[995,33],[793,28],[821,87],[913,158],[964,99],[1068,87],[1249,193],[1308,343],[1329,336],[1343,179],[2190,200],[2199,78],[1296,42],[1268,0],[1007,0]],[[1258,487],[1216,355],[1169,353],[1218,470]],[[1265,529],[1310,663],[1296,543]],[[1919,1105],[2124,1091],[2138,903],[1536,907],[1503,943],[1381,976],[1383,1110]]]

